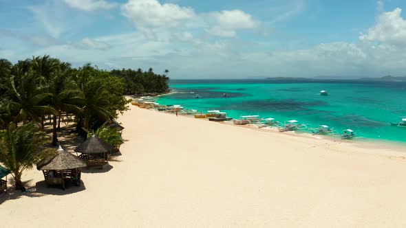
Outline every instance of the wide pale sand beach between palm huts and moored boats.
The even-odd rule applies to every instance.
[[[401,149],[268,133],[131,106],[122,156],[82,187],[0,195],[1,227],[406,227]],[[406,156],[406,155],[404,155]]]

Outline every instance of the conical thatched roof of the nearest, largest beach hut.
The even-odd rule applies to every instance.
[[[37,170],[72,170],[86,167],[83,159],[66,152],[59,146],[55,156],[45,159],[36,165]]]

